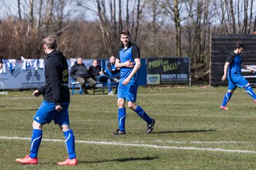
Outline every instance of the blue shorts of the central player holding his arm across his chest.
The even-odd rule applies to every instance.
[[[138,82],[131,80],[129,84],[122,84],[124,80],[120,79],[118,90],[117,90],[117,98],[124,98],[127,101],[135,102],[137,99],[137,90],[138,90]]]

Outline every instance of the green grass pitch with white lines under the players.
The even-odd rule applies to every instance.
[[[32,91],[0,95],[1,169],[256,169],[256,104],[244,89],[235,91],[221,111],[226,87],[139,88],[137,104],[156,119],[154,132],[127,109],[126,135],[117,128],[115,96],[71,96],[70,124],[77,166],[58,166],[67,158],[58,125],[43,128],[38,165],[21,165],[29,154],[31,123],[42,97]]]

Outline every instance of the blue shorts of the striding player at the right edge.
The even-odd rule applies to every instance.
[[[248,81],[241,74],[228,73],[228,90],[243,88],[247,84]]]

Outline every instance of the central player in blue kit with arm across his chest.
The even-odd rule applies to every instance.
[[[124,135],[125,132],[125,118],[126,110],[124,107],[125,101],[128,107],[139,115],[147,123],[147,133],[151,133],[154,128],[155,120],[140,107],[136,105],[139,67],[141,67],[141,60],[139,54],[139,47],[130,42],[130,35],[128,30],[122,30],[121,38],[122,47],[119,49],[115,67],[120,68],[121,79],[117,90],[117,105],[118,105],[118,125],[119,129],[112,133],[112,135]]]

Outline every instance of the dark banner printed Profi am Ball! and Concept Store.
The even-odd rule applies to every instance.
[[[146,62],[146,84],[189,84],[189,57],[149,57]]]

